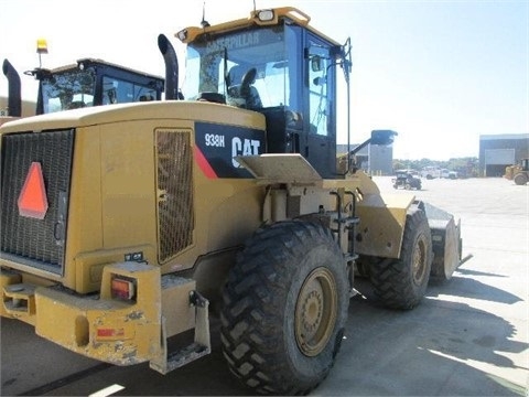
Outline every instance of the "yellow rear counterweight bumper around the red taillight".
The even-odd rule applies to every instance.
[[[136,280],[136,303],[111,298],[114,275]],[[105,268],[100,299],[37,288],[35,332],[71,351],[116,365],[149,361],[160,353],[160,288],[158,267],[133,262]]]

